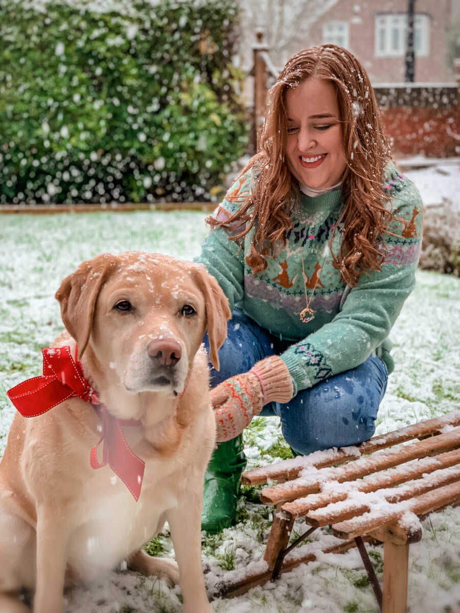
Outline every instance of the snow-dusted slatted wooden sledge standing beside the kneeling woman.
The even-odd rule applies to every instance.
[[[261,492],[276,506],[267,542],[265,568],[240,581],[221,582],[218,596],[238,596],[276,580],[315,554],[295,547],[313,530],[332,525],[337,544],[323,553],[343,553],[357,546],[383,613],[407,610],[410,543],[420,541],[420,518],[460,503],[460,410],[428,419],[366,443],[317,451],[242,474],[247,485],[277,481]],[[288,547],[294,520],[310,526]],[[341,539],[341,541],[339,540]],[[383,590],[364,542],[384,544]]]

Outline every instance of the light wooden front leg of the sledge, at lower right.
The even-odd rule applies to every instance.
[[[408,544],[396,545],[385,539],[383,546],[382,613],[406,613]]]

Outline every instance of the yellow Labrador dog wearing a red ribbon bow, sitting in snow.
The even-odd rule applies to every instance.
[[[25,587],[34,613],[61,613],[64,585],[126,560],[178,582],[185,613],[211,613],[201,504],[215,421],[202,339],[207,330],[218,368],[228,301],[201,265],[137,252],[83,262],[56,298],[70,336],[44,350],[43,378],[10,390],[29,417],[16,414],[0,463],[0,611],[28,611],[15,599]],[[70,379],[81,389],[66,399]],[[142,549],[165,521],[178,568]]]

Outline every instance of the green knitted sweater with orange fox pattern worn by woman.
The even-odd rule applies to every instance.
[[[252,180],[251,171],[240,175],[213,216],[226,219],[237,211]],[[393,164],[386,169],[385,188],[393,213],[408,224],[404,228],[397,221],[390,224],[389,229],[399,236],[385,234],[378,244],[385,254],[381,271],[362,275],[353,288],[332,267],[328,245],[342,207],[340,189],[314,198],[300,194],[286,245],[276,257],[267,257],[267,268],[261,273],[253,275],[246,263],[254,229],[237,242],[228,238],[229,233],[239,234],[238,223],[230,230],[212,229],[202,244],[197,261],[215,276],[230,308],[239,308],[278,338],[292,341],[281,357],[293,379],[294,395],[362,364],[372,352],[389,372],[393,370],[388,334],[415,285],[422,210],[418,190]],[[334,253],[339,252],[340,237],[340,231],[336,232]],[[308,323],[299,317],[306,306],[305,289],[315,311]]]

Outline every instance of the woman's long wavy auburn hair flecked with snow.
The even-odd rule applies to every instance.
[[[342,177],[343,210],[337,226],[342,226],[338,254],[332,252],[335,229],[329,238],[332,265],[341,271],[345,283],[355,286],[359,276],[380,270],[384,256],[377,240],[394,216],[388,211],[390,199],[384,186],[385,166],[391,148],[383,134],[380,112],[366,70],[358,60],[337,45],[320,45],[299,51],[288,60],[275,85],[269,90],[264,127],[258,141],[258,153],[250,159],[242,174],[254,168],[255,177],[249,196],[244,196],[237,212],[224,221],[212,217],[210,226],[245,228],[229,240],[237,240],[256,224],[246,258],[253,273],[267,267],[266,257],[273,256],[278,240],[286,242],[297,180],[285,162],[285,94],[308,78],[324,79],[337,94],[339,121],[347,167]],[[386,206],[385,206],[386,205]],[[389,234],[393,234],[389,232]]]

